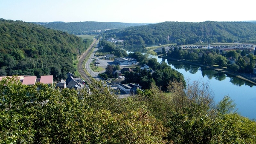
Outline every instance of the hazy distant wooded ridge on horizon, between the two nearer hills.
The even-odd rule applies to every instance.
[[[74,35],[99,34],[99,31],[105,29],[123,29],[129,26],[140,26],[146,23],[119,23],[119,22],[50,22],[50,23],[36,23],[43,25],[50,29],[61,30]]]

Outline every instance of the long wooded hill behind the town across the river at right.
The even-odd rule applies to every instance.
[[[105,37],[116,36],[125,44],[225,43],[256,42],[256,24],[250,22],[164,22],[145,26],[131,26],[123,30],[110,30]]]

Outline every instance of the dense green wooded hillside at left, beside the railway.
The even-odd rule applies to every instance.
[[[74,72],[73,60],[91,42],[33,23],[0,19],[0,76],[64,78]]]

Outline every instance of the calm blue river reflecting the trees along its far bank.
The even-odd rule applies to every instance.
[[[145,49],[137,46],[126,47],[125,49],[128,52],[146,52]],[[190,82],[198,80],[204,83],[209,82],[210,89],[214,92],[215,103],[218,103],[225,95],[228,95],[236,103],[237,112],[240,115],[256,119],[256,86],[253,84],[212,69],[174,60],[155,58],[159,63],[165,61],[173,69],[182,73],[185,80],[189,79]]]

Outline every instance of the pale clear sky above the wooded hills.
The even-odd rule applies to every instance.
[[[0,18],[25,22],[256,20],[253,0],[0,0]]]

